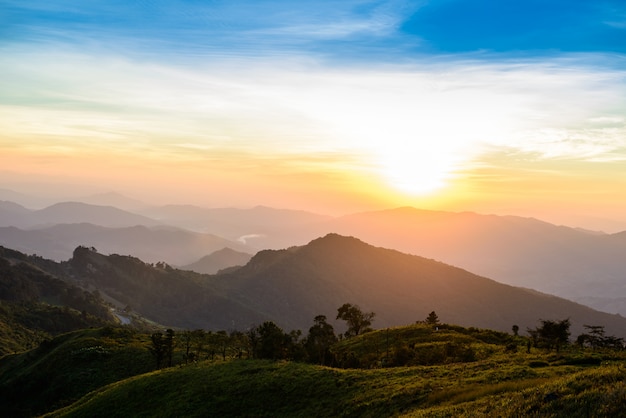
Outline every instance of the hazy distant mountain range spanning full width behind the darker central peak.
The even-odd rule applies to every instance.
[[[106,195],[99,201],[106,203]],[[254,254],[339,233],[626,315],[626,232],[606,234],[533,218],[410,207],[341,217],[262,206],[168,205],[133,213],[68,202],[32,211],[5,201],[0,226],[0,245],[57,261],[86,245],[188,268],[226,247]]]

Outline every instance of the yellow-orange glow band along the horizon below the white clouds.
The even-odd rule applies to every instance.
[[[576,163],[584,174],[564,176],[554,169],[559,164],[537,163],[529,169],[507,161],[508,167],[479,166],[452,173],[443,187],[415,193],[395,187],[376,170],[368,171],[367,164],[358,170],[353,165],[341,171],[329,169],[337,167],[337,156],[308,163],[304,156],[297,161],[294,158],[209,158],[201,154],[174,157],[158,152],[13,145],[3,146],[0,160],[6,180],[48,184],[40,190],[43,194],[77,196],[88,190],[118,191],[155,204],[264,204],[330,215],[414,206],[535,216],[591,229],[610,228],[600,218],[614,216],[619,220],[626,209],[619,193],[626,190],[626,180],[609,175],[620,169],[619,162]],[[607,207],[611,211],[607,212]],[[603,211],[596,212],[598,208]]]

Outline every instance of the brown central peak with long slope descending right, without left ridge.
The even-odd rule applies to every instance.
[[[605,325],[620,335],[626,329],[621,316],[336,234],[261,251],[223,280],[232,299],[286,328],[302,328],[318,314],[334,317],[349,301],[376,312],[376,327],[410,324],[435,310],[444,322],[501,331],[568,317],[576,332],[583,324]]]

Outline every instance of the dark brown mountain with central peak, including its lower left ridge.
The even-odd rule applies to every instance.
[[[316,315],[332,319],[349,302],[376,312],[377,328],[423,320],[435,310],[444,322],[502,331],[565,318],[573,335],[584,324],[604,325],[619,336],[626,329],[619,315],[335,234],[302,247],[261,251],[244,267],[215,276],[85,248],[68,265],[82,283],[143,316],[184,328],[245,329],[272,320],[305,330]]]

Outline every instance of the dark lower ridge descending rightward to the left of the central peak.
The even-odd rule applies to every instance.
[[[128,306],[166,326],[232,329],[266,318],[224,295],[210,276],[177,270],[165,263],[151,265],[135,257],[105,256],[78,247],[63,265],[79,285],[97,288],[119,306]]]

